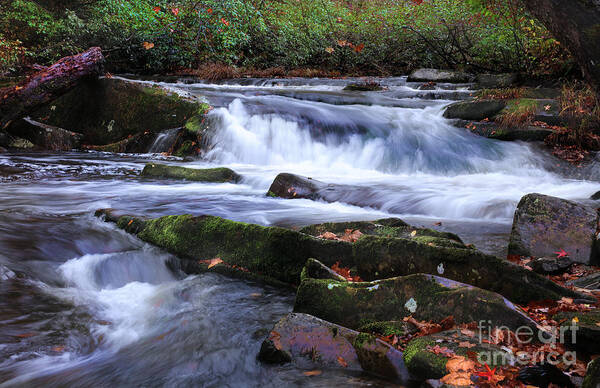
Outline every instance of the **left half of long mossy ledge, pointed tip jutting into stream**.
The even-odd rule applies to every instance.
[[[352,245],[343,241],[317,239],[293,230],[229,221],[213,216],[167,216],[143,220],[100,210],[109,222],[141,240],[154,244],[183,259],[188,273],[213,271],[229,276],[249,275],[278,286],[299,284],[308,258],[327,266],[341,257],[351,257]],[[211,266],[209,260],[223,263]],[[199,261],[206,260],[206,261]]]

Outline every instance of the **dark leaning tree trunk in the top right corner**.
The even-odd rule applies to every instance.
[[[600,90],[600,0],[522,0],[575,57],[583,75]]]

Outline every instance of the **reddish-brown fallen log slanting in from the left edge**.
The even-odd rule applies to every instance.
[[[102,51],[93,47],[61,59],[16,87],[0,89],[0,129],[62,96],[82,80],[101,75],[103,67]]]

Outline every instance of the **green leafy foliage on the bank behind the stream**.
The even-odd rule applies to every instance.
[[[569,65],[516,0],[69,0],[64,7],[49,1],[0,5],[3,70],[47,64],[92,45],[105,49],[114,71],[222,63],[376,74],[415,67],[552,74]]]

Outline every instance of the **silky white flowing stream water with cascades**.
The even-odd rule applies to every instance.
[[[168,269],[170,256],[93,217],[211,214],[299,227],[401,217],[505,254],[518,200],[530,192],[584,200],[593,181],[524,143],[455,128],[442,117],[468,85],[419,91],[405,78],[384,92],[344,92],[351,80],[169,84],[205,96],[218,130],[202,161],[157,154],[0,154],[0,387],[389,386],[344,370],[306,377],[256,360],[293,294]],[[155,141],[161,152],[166,131]],[[138,177],[149,160],[228,166],[241,184]],[[367,188],[365,207],[265,196],[292,172]],[[581,177],[574,174],[573,177]],[[360,197],[360,198],[359,198]],[[352,202],[352,201],[351,201]]]

